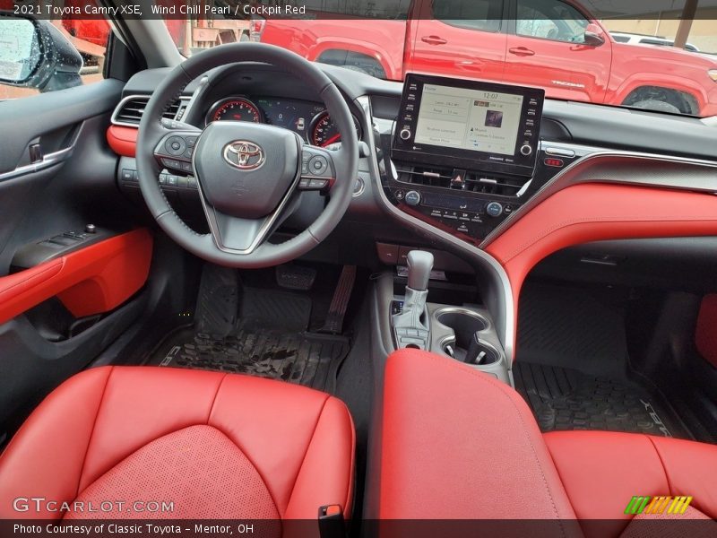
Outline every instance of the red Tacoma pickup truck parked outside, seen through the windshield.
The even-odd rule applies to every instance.
[[[618,43],[574,0],[381,5],[381,13],[256,18],[251,39],[391,80],[407,72],[454,75],[540,86],[556,99],[717,115],[717,62],[679,48]]]

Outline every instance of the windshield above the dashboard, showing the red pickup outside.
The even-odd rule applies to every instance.
[[[437,74],[717,116],[717,0],[161,1],[184,56],[251,40],[393,81]]]

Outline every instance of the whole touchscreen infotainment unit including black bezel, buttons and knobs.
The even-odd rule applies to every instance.
[[[538,88],[409,74],[393,155],[433,164],[445,156],[448,165],[528,174],[543,99]]]

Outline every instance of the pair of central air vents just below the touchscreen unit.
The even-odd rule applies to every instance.
[[[426,166],[397,166],[398,180],[413,185],[441,187],[483,195],[515,196],[523,188],[523,178],[505,178],[467,171],[462,182],[452,181],[454,169]]]

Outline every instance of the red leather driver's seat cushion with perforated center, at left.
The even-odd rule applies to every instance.
[[[82,517],[57,507],[107,500],[127,503],[100,514],[111,518],[316,519],[324,505],[349,516],[353,454],[346,406],[303,386],[90,369],[49,395],[0,456],[0,517]],[[58,504],[13,508],[32,497]],[[172,501],[174,510],[131,512],[134,501]]]

